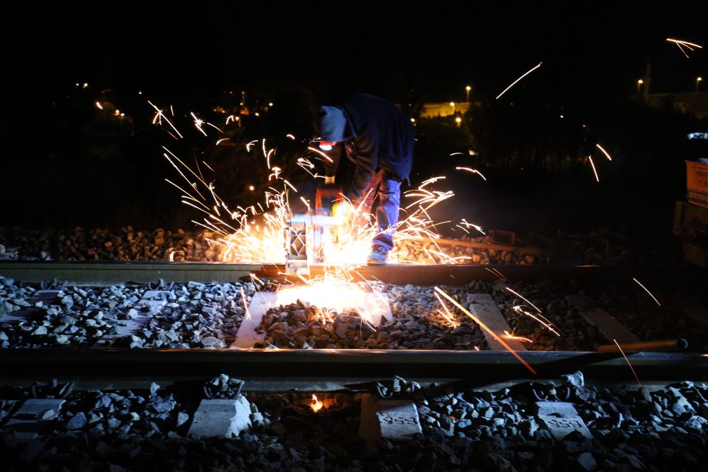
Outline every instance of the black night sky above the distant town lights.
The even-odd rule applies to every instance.
[[[462,101],[468,84],[489,99],[538,62],[524,93],[564,100],[633,93],[650,54],[652,91],[692,91],[708,75],[708,51],[686,59],[666,42],[708,45],[702,1],[94,3],[23,13],[19,33],[2,33],[17,103],[84,81],[164,99],[306,86]]]

